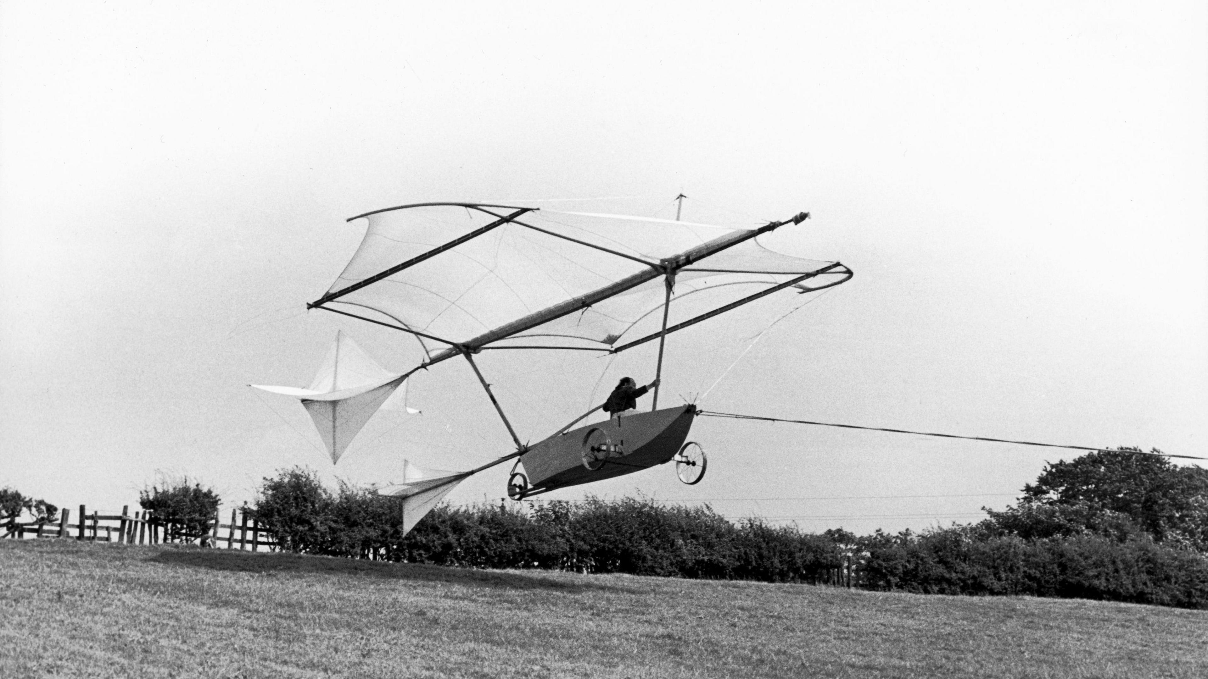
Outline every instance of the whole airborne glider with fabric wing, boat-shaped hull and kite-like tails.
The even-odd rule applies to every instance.
[[[813,292],[852,278],[840,262],[791,257],[756,240],[808,216],[800,213],[754,228],[732,228],[481,203],[422,203],[365,213],[348,220],[367,222],[360,246],[335,284],[308,308],[406,333],[418,342],[423,362],[401,375],[388,373],[359,350],[341,349],[355,347],[344,338],[337,341],[335,359],[329,359],[335,366],[330,379],[320,371],[307,390],[269,389],[302,399],[335,462],[389,390],[417,370],[465,359],[516,449],[477,469],[416,472],[379,489],[408,503],[405,513],[414,521],[464,478],[511,459],[516,463],[507,493],[513,499],[673,459],[680,480],[696,483],[705,458],[699,445],[685,443],[697,414],[693,405],[660,410],[656,387],[651,412],[571,429],[598,406],[527,445],[474,356],[484,350],[616,354],[657,340],[660,376],[667,335],[767,295]],[[662,323],[651,326],[660,315]],[[337,384],[341,360],[350,356],[360,361],[359,377]]]

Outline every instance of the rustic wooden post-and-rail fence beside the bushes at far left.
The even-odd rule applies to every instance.
[[[5,534],[0,538],[60,538],[127,545],[159,545],[172,541],[169,539],[172,524],[156,521],[149,511],[137,511],[132,515],[129,510],[129,505],[126,505],[122,507],[122,513],[105,515],[93,510],[89,515],[87,507],[80,505],[76,523],[71,523],[71,510],[64,509],[57,522],[2,524],[0,530],[5,530]],[[267,530],[260,528],[256,520],[249,518],[248,512],[231,510],[231,523],[222,523],[220,513],[215,512],[210,521],[210,532],[197,540],[203,547],[277,551],[277,542]]]

